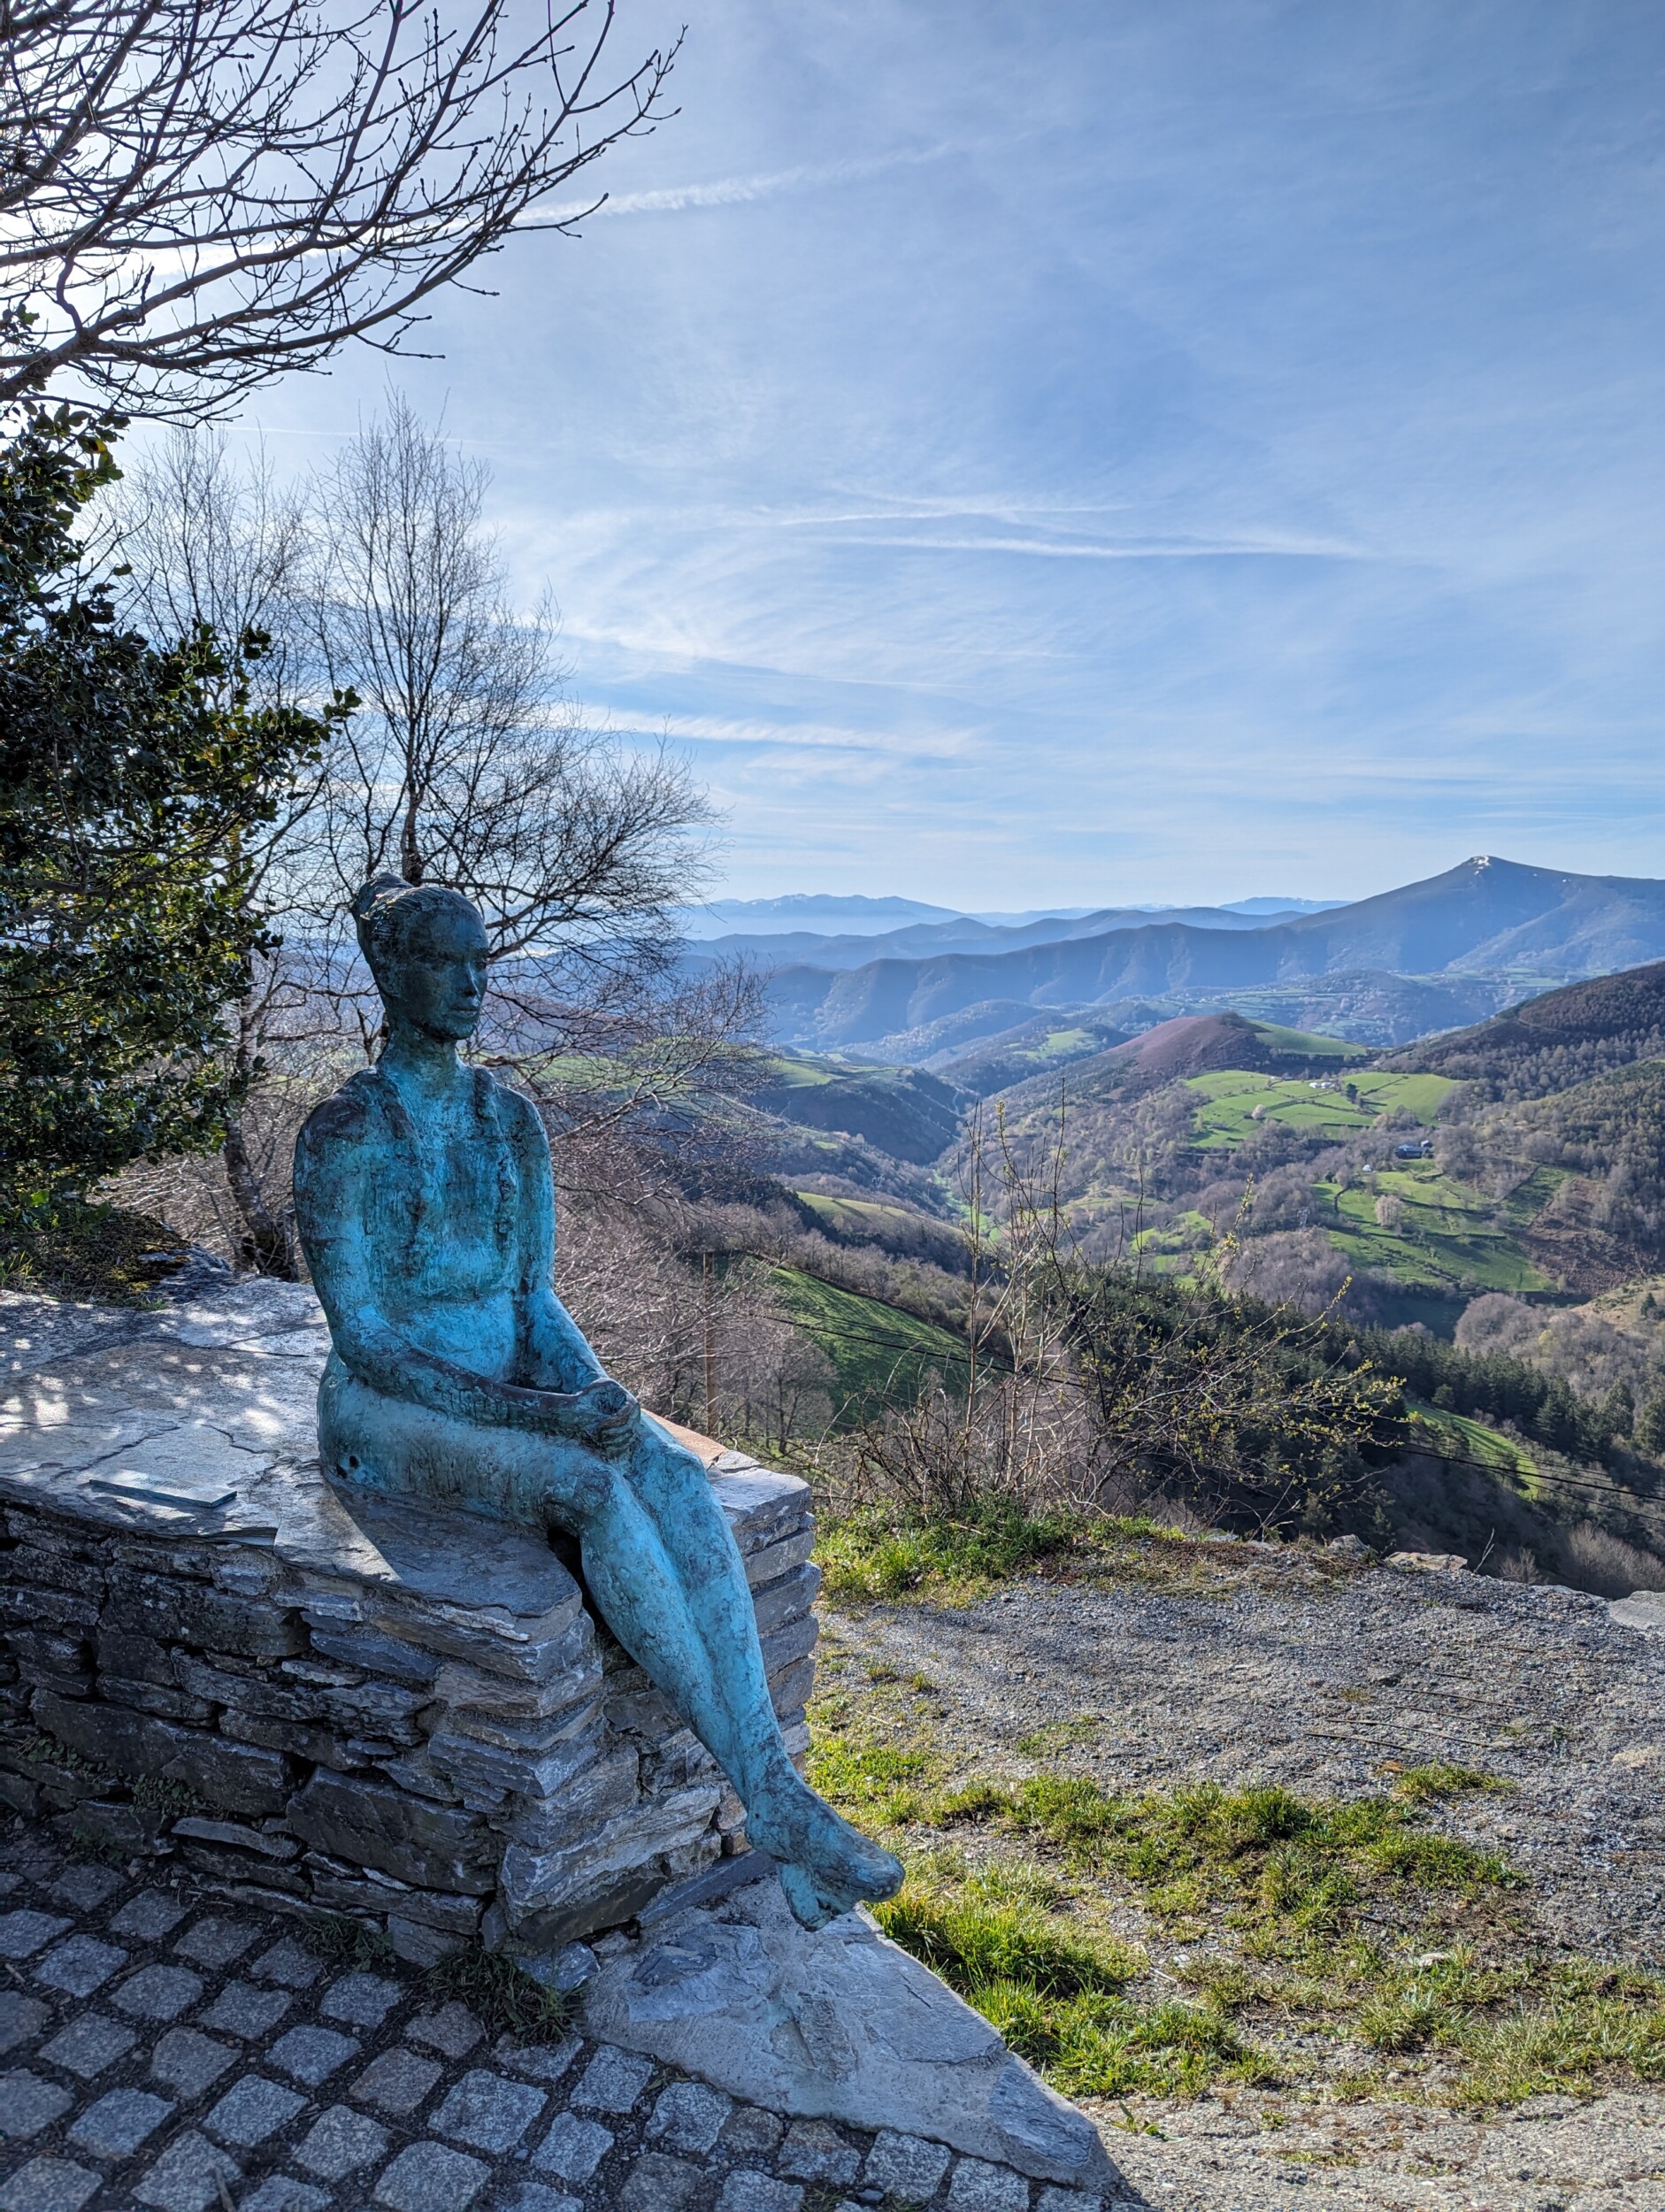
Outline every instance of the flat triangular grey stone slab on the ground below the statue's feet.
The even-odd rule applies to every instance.
[[[615,1951],[584,2026],[776,2112],[926,2137],[1070,2188],[1114,2179],[1086,2115],[869,1913],[811,1933],[774,1880]]]

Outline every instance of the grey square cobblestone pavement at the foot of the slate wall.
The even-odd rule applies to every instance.
[[[1101,2212],[577,2035],[493,2039],[418,1969],[327,1964],[305,1933],[15,1823],[0,2212]]]

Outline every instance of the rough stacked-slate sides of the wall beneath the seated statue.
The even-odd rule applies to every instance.
[[[745,1851],[712,1759],[548,1546],[285,1460],[212,1540],[199,1511],[150,1533],[172,1509],[130,1458],[0,1467],[7,1805],[248,1905],[374,1922],[416,1962],[546,1955]],[[734,1453],[712,1480],[800,1750],[807,1489]]]

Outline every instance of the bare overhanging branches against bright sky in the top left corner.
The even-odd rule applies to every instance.
[[[663,113],[612,0],[0,0],[0,400],[203,418],[422,303]]]

